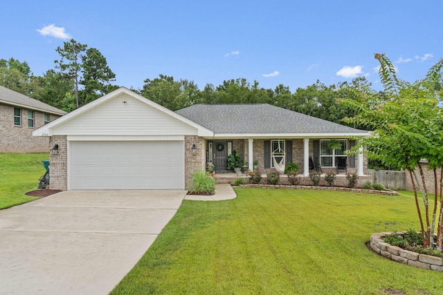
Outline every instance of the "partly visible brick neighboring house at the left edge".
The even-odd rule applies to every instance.
[[[32,131],[66,112],[37,99],[0,86],[0,153],[49,151],[48,137],[33,137]]]

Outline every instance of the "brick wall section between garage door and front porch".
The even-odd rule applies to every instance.
[[[195,144],[197,152],[192,155],[192,144]],[[192,184],[192,173],[199,169],[206,169],[206,140],[197,135],[185,136],[185,186],[189,189]]]

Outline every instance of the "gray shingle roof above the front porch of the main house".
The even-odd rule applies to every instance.
[[[215,133],[368,133],[270,104],[195,104],[177,113]]]

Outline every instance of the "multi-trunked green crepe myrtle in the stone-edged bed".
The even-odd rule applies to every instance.
[[[437,246],[443,248],[443,200],[442,178],[437,179],[436,170],[443,172],[443,113],[441,103],[443,60],[433,66],[424,79],[413,84],[397,78],[392,62],[381,54],[379,76],[384,86],[382,92],[368,87],[349,86],[351,95],[341,102],[356,111],[346,122],[366,126],[372,136],[365,137],[354,147],[368,146],[368,158],[386,166],[408,171],[413,183],[415,205],[422,229],[424,247],[432,247],[433,233],[440,207],[437,226]],[[433,214],[429,218],[429,199],[421,160],[426,158],[434,171],[435,199]],[[416,173],[418,170],[418,175]],[[440,183],[440,206],[438,191]],[[422,196],[420,205],[418,194]]]

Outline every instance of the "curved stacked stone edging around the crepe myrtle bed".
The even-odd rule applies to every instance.
[[[371,249],[380,256],[397,261],[397,263],[404,263],[406,265],[443,272],[442,258],[408,251],[397,246],[392,246],[381,239],[390,234],[391,233],[372,234],[370,238]]]

